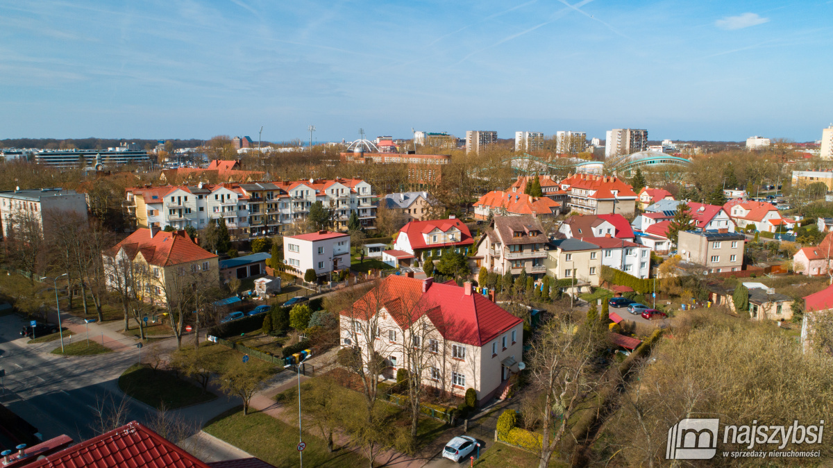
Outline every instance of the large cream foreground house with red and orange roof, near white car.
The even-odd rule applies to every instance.
[[[342,348],[382,356],[387,378],[399,369],[421,369],[421,384],[456,396],[466,389],[477,400],[501,396],[518,372],[523,320],[512,316],[471,282],[435,283],[433,278],[387,276],[362,299],[340,312]]]

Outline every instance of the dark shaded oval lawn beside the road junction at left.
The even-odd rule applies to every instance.
[[[142,403],[168,410],[182,406],[212,401],[217,398],[211,392],[174,376],[171,372],[154,370],[150,366],[134,364],[118,378],[118,386],[127,395]]]

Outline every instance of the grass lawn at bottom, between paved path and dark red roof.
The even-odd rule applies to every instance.
[[[298,429],[264,413],[243,416],[242,406],[226,411],[202,428],[208,434],[257,456],[274,466],[298,463]],[[339,449],[327,452],[327,443],[317,436],[304,434],[304,466],[367,466],[367,459],[357,453]]]

